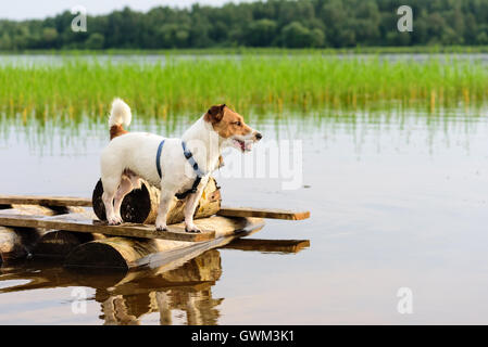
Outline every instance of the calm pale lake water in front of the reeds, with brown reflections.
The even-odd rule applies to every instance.
[[[3,265],[0,324],[486,324],[487,115],[250,115],[263,143],[246,158],[227,154],[215,175],[223,203],[309,209],[308,220],[266,220],[250,236],[309,248],[213,249],[133,279]],[[130,130],[179,136],[198,116],[168,130],[136,115]],[[2,194],[91,195],[103,123],[4,119],[0,133]],[[197,275],[202,267],[210,274]],[[400,288],[412,294],[410,314],[398,310]]]

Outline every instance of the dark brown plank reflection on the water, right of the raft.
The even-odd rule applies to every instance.
[[[299,253],[306,247],[310,247],[310,240],[236,239],[223,248],[264,253]]]

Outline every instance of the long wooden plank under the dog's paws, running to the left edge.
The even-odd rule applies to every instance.
[[[202,233],[187,233],[182,226],[170,226],[167,231],[157,231],[154,226],[128,224],[108,226],[90,219],[67,219],[65,217],[42,217],[0,214],[0,224],[5,227],[25,227],[58,229],[76,232],[91,232],[116,236],[161,239],[186,242],[200,242],[215,239],[215,231],[202,230]]]

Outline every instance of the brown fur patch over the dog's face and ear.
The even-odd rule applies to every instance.
[[[210,107],[204,119],[211,123],[213,129],[224,139],[236,134],[246,136],[252,131],[245,123],[243,117],[225,104]]]

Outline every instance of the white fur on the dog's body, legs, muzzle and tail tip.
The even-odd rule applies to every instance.
[[[120,99],[112,105],[109,125],[118,125],[130,121],[130,108]],[[255,142],[255,131],[246,137],[235,137],[241,141]],[[254,137],[254,139],[252,139]],[[139,177],[154,185],[164,189],[161,191],[161,201],[158,210],[157,229],[166,229],[166,216],[173,196],[187,191],[193,184],[196,174],[185,158],[182,140],[193,154],[200,169],[207,175],[202,178],[197,193],[187,197],[185,207],[185,223],[187,231],[198,232],[193,223],[193,214],[200,201],[203,188],[210,175],[218,165],[218,157],[226,146],[236,146],[234,139],[224,139],[213,129],[213,126],[200,117],[182,139],[165,139],[161,152],[160,179],[157,169],[158,146],[163,137],[147,132],[129,132],[113,139],[101,154],[101,179],[103,183],[103,203],[107,219],[110,224],[122,222],[120,207],[126,194],[139,184]],[[247,146],[248,149],[248,146]],[[250,145],[249,145],[250,149]],[[115,200],[115,201],[114,201]],[[114,201],[114,205],[112,202]]]

